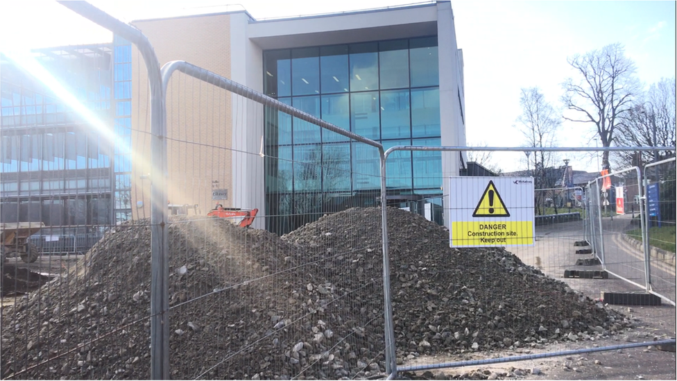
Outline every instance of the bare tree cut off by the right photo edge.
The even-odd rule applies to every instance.
[[[618,126],[614,143],[617,146],[674,146],[677,108],[675,88],[675,78],[662,78],[651,85]],[[638,151],[619,152],[614,157],[617,164],[641,166],[672,155],[674,151]]]

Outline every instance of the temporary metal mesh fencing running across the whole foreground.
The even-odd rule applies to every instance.
[[[490,364],[674,344],[592,348],[623,328],[584,296],[603,291],[604,269],[674,300],[648,245],[639,260],[612,251],[627,217],[604,214],[603,178],[583,192],[529,171],[455,176],[468,147],[387,146],[188,62],[160,69],[142,33],[65,5],[146,63],[123,134],[132,219],[3,311],[3,328],[14,328],[3,330],[13,348],[3,378],[394,378],[471,364],[440,363],[443,350],[565,348],[479,360]],[[660,171],[667,181],[669,168]],[[642,200],[638,174],[636,183]],[[644,266],[644,283],[624,276],[628,262]]]

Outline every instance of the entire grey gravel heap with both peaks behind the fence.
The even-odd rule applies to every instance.
[[[353,208],[283,237],[173,220],[172,378],[381,375],[380,218],[378,208]],[[136,223],[3,309],[1,344],[12,349],[1,377],[52,357],[17,378],[150,377],[151,237]],[[448,231],[418,215],[388,210],[388,232],[398,361],[582,340],[629,324],[502,248],[449,248]]]

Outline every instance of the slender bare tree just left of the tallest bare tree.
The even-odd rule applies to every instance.
[[[525,153],[529,152],[527,147],[552,147],[556,145],[556,137],[561,120],[556,116],[557,113],[550,103],[545,100],[545,96],[540,93],[538,87],[522,89],[520,96],[520,105],[522,106],[522,115],[517,117],[521,124],[520,130],[525,139]],[[558,176],[556,171],[556,155],[552,152],[532,152],[526,155],[527,169],[531,171],[536,189],[546,189],[554,187]],[[540,205],[543,204],[545,194],[536,192],[536,213],[540,214]],[[553,197],[554,198],[554,197]],[[555,212],[557,212],[555,210]]]

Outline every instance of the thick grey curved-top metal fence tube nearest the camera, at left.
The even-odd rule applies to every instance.
[[[137,46],[148,71],[151,92],[151,378],[169,380],[169,239],[165,104],[160,62],[141,31],[85,1],[59,1],[62,6],[103,26]]]

